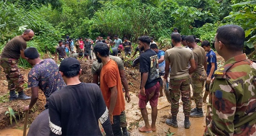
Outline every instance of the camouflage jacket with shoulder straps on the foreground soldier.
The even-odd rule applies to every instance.
[[[245,54],[215,71],[204,135],[256,135],[256,63]]]

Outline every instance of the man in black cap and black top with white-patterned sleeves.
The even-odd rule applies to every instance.
[[[101,90],[96,84],[80,82],[81,71],[75,58],[61,62],[59,72],[67,86],[49,97],[50,135],[102,136],[99,122],[106,135],[113,135]]]

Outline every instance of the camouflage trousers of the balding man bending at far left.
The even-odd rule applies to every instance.
[[[3,68],[8,81],[8,90],[20,92],[24,89],[24,78],[17,66],[18,59],[3,58],[0,59],[0,65]]]

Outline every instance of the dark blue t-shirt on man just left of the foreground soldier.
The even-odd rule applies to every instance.
[[[217,58],[216,58],[216,54],[212,51],[212,49],[211,49],[211,51],[207,52],[206,59],[207,59],[207,71],[206,71],[206,73],[207,73],[207,76],[209,76],[211,68],[212,68],[211,63],[215,64],[214,71],[217,69]],[[213,71],[213,73],[214,73],[214,71]],[[211,78],[213,78],[213,77],[214,77],[214,74],[212,74]]]

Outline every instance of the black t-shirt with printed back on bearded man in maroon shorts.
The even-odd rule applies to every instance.
[[[140,72],[141,79],[142,74],[148,72],[148,79],[145,85],[145,89],[153,87],[157,82],[160,81],[158,57],[156,52],[148,49],[140,55]]]

